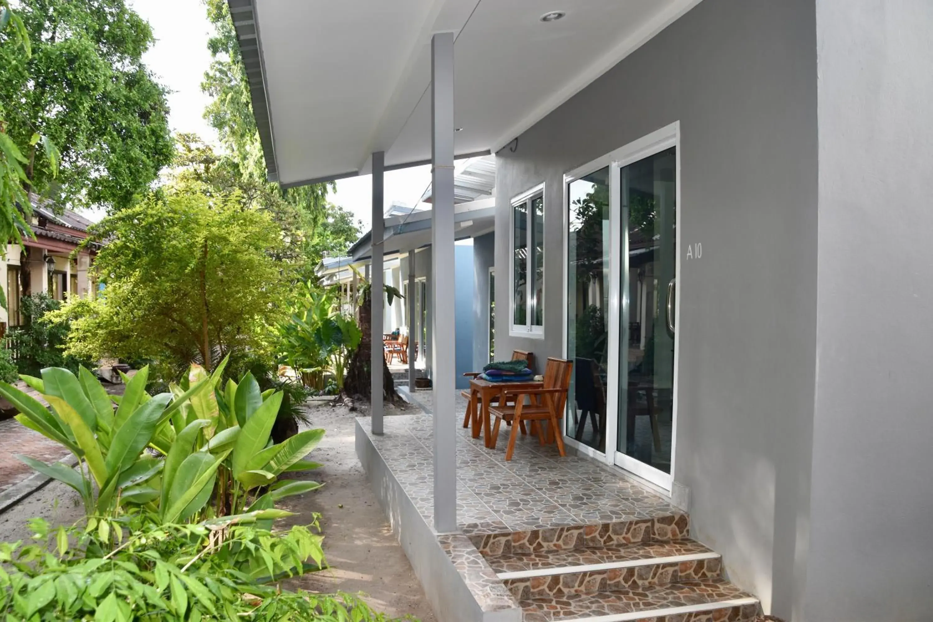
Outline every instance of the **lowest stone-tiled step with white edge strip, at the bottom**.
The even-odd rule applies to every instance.
[[[520,601],[524,622],[752,622],[758,599],[722,579]]]

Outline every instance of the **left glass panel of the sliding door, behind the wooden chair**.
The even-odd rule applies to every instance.
[[[609,169],[570,182],[567,199],[567,358],[574,377],[566,435],[605,452]]]

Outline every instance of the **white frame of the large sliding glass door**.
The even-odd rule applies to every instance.
[[[608,378],[606,382],[606,452],[603,453],[593,449],[588,445],[578,442],[572,436],[564,434],[564,442],[578,449],[580,453],[591,456],[600,462],[620,466],[638,477],[647,479],[649,482],[657,484],[662,489],[670,491],[674,483],[675,476],[675,456],[677,443],[677,382],[679,374],[677,367],[680,361],[680,296],[675,297],[675,326],[677,333],[674,339],[674,404],[672,416],[671,431],[671,472],[664,473],[646,463],[639,462],[633,457],[620,452],[617,447],[619,442],[619,400],[620,400],[620,344],[621,339],[628,342],[628,323],[630,300],[629,292],[621,291],[621,275],[628,270],[628,240],[623,239],[622,235],[622,215],[620,206],[620,171],[624,167],[637,162],[638,160],[648,158],[656,153],[676,147],[676,171],[675,171],[675,279],[676,283],[683,283],[680,277],[680,241],[683,227],[680,200],[680,122],[675,121],[657,131],[652,131],[647,136],[624,145],[615,151],[606,154],[574,169],[570,173],[564,174],[564,358],[567,355],[567,322],[568,317],[568,298],[567,298],[567,280],[569,270],[567,260],[569,256],[569,200],[568,186],[571,182],[579,178],[594,173],[606,166],[609,167],[609,317],[608,317]],[[679,289],[679,287],[678,287]],[[626,357],[626,362],[628,357]],[[572,408],[569,404],[568,408]],[[564,417],[564,433],[566,432],[566,422],[569,417]]]

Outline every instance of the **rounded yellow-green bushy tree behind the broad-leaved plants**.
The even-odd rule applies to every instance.
[[[53,314],[72,323],[66,352],[155,359],[173,372],[271,352],[291,273],[272,256],[281,230],[238,193],[168,188],[104,218],[92,239],[107,240],[94,262],[104,291]]]

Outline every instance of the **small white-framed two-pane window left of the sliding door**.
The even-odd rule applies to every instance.
[[[544,326],[544,195],[512,203],[512,331]]]

